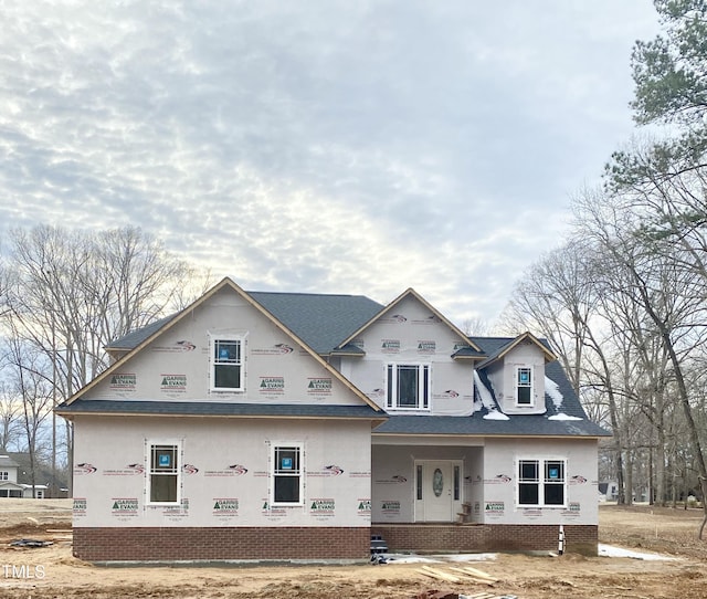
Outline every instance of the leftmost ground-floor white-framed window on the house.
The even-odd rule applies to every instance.
[[[179,442],[147,442],[147,503],[181,503],[181,445]]]

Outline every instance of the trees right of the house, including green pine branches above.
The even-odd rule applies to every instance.
[[[707,4],[655,8],[662,33],[634,45],[631,106],[658,133],[577,193],[571,234],[517,283],[507,317],[547,336],[613,433],[601,476],[620,503],[705,504]]]

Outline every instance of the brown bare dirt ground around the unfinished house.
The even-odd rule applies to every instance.
[[[429,578],[421,564],[97,567],[72,557],[70,505],[64,500],[0,501],[0,598],[410,599],[432,589],[518,599],[707,597],[707,542],[697,539],[700,509],[600,508],[600,543],[676,559],[588,558],[571,550],[558,557],[498,554],[468,564],[497,579],[485,585],[453,569],[464,565],[450,563],[431,566],[458,576],[458,582]],[[19,538],[54,544],[9,545]]]

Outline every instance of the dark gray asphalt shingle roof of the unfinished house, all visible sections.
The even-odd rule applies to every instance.
[[[384,306],[362,295],[331,295],[308,293],[247,292],[289,330],[320,355],[333,353],[339,344],[370,322]],[[131,349],[168,324],[176,315],[168,316],[110,344],[112,348]],[[469,340],[482,349],[462,349],[469,356],[498,356],[515,338],[477,337]],[[548,349],[545,339],[539,339]],[[365,355],[360,348],[347,345],[335,353]],[[488,361],[488,360],[486,360]],[[606,431],[590,422],[560,364],[555,360],[546,365],[546,376],[558,385],[563,402],[556,407],[546,393],[545,414],[510,416],[508,420],[488,420],[484,408],[472,417],[390,416],[376,429],[376,434],[479,434],[479,435],[555,435],[555,437],[603,437]],[[482,381],[490,390],[483,370]],[[131,413],[131,414],[181,414],[223,417],[300,417],[300,418],[386,418],[369,406],[317,406],[317,404],[257,404],[208,401],[120,401],[76,400],[70,406],[59,407],[60,413]],[[582,420],[549,420],[562,412]]]

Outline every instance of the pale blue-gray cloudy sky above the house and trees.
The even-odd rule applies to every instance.
[[[4,0],[0,238],[493,322],[633,124],[650,0]]]

